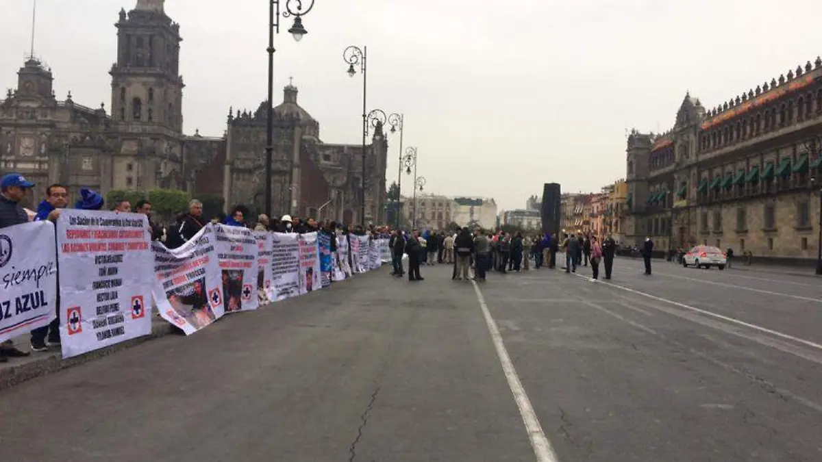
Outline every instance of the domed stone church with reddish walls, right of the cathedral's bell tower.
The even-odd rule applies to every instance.
[[[298,89],[287,85],[274,108],[271,191],[276,214],[312,216],[359,223],[363,200],[363,146],[320,140],[320,124],[297,103]],[[254,112],[229,111],[227,151],[222,164],[223,194],[231,204],[256,210],[265,206],[266,101]],[[366,146],[366,216],[385,220],[388,142],[381,125]],[[215,163],[218,164],[219,163]]]

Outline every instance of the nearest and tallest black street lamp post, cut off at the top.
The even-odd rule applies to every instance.
[[[285,11],[280,12],[279,3],[283,2]],[[303,3],[307,6],[303,7]],[[297,41],[308,33],[302,26],[302,16],[314,7],[314,0],[269,0],[268,26],[268,106],[266,108],[266,215],[271,216],[271,162],[274,152],[274,35],[279,34],[279,16],[294,16],[289,33]],[[289,212],[291,197],[289,197]]]

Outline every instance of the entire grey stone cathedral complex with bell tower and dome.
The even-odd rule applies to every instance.
[[[103,194],[164,188],[192,197],[217,194],[226,208],[265,210],[269,102],[254,111],[229,109],[222,136],[185,135],[180,25],[163,4],[137,0],[132,11],[119,12],[108,110],[104,103],[77,104],[71,92],[58,99],[51,69],[34,57],[17,72],[17,88],[0,99],[0,173],[19,172],[37,183],[28,206],[59,182],[72,200],[82,187]],[[297,95],[289,83],[274,108],[271,209],[359,223],[364,201],[365,221],[384,221],[388,143],[382,127],[369,133],[363,172],[363,146],[321,141],[319,123]]]

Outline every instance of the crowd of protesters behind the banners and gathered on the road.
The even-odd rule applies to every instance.
[[[27,192],[35,187],[33,182],[26,180],[18,173],[10,173],[0,180],[0,229],[23,224],[30,220],[56,221],[60,210],[69,206],[67,187],[55,183],[46,188],[46,198],[37,210],[29,212],[21,206]],[[80,199],[74,208],[81,210],[102,210],[105,206],[104,197],[98,192],[81,189]],[[249,219],[249,210],[245,206],[235,206],[229,215],[219,214],[212,217],[203,215],[203,204],[197,199],[188,203],[188,210],[178,215],[173,223],[157,224],[151,216],[150,201],[138,201],[132,210],[132,204],[127,200],[118,200],[110,204],[110,210],[119,212],[136,212],[146,215],[149,221],[151,238],[164,243],[166,247],[177,248],[194,238],[207,223],[221,223],[229,226],[242,226],[256,231],[274,231],[278,233],[325,233],[330,236],[330,250],[337,249],[339,235],[369,235],[372,238],[389,238],[389,247],[392,253],[391,275],[402,277],[405,275],[404,256],[408,255],[409,281],[422,281],[421,266],[437,264],[453,265],[454,280],[477,280],[484,282],[489,272],[506,274],[510,271],[528,271],[533,261],[533,268],[556,268],[556,253],[566,255],[566,272],[575,272],[578,266],[591,265],[592,280],[598,280],[599,265],[604,263],[605,279],[611,279],[613,258],[617,250],[617,243],[611,236],[599,243],[598,239],[589,235],[575,235],[573,233],[553,236],[551,234],[536,235],[529,233],[505,233],[503,231],[489,231],[480,228],[455,229],[452,231],[424,231],[418,229],[404,232],[401,229],[391,229],[389,226],[367,227],[339,224],[331,220],[317,221],[313,218],[300,219],[291,215],[282,215],[279,219],[267,215],[258,215],[256,220]],[[653,252],[653,242],[646,241],[642,253],[645,256],[646,274],[650,274],[650,255]],[[472,275],[473,273],[473,275]],[[59,293],[58,301],[59,306]],[[45,351],[48,345],[59,345],[59,316],[50,325],[31,331],[31,349]],[[28,356],[30,353],[16,349],[11,340],[0,344],[0,363],[7,362],[8,358]]]

